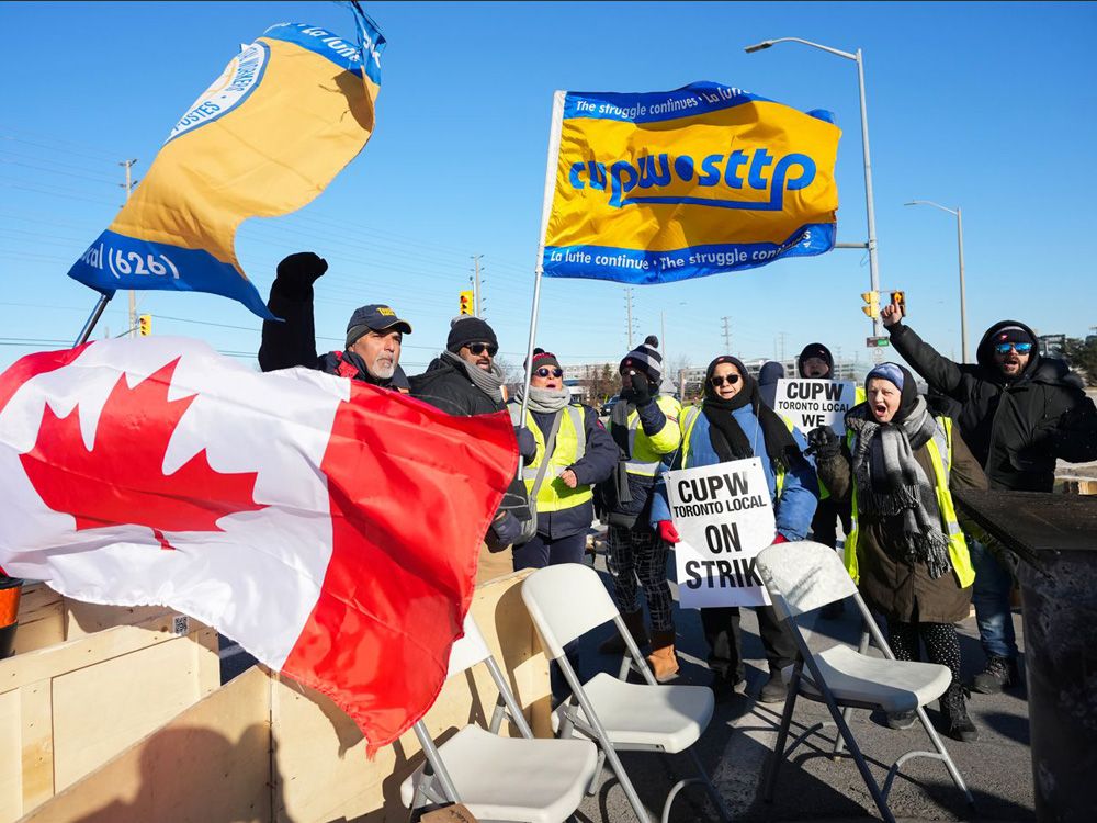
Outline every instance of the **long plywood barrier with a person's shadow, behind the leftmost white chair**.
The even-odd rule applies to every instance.
[[[520,594],[528,574],[478,586],[472,612],[534,731],[547,735],[548,666]],[[446,683],[427,725],[444,739],[468,722],[483,723],[496,696],[487,672],[477,667]],[[192,745],[202,747],[202,756],[176,752]],[[421,756],[408,733],[367,760],[358,728],[330,700],[255,667],[25,821],[403,823],[408,812],[399,785]]]

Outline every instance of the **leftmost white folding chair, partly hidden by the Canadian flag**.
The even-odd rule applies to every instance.
[[[466,725],[440,746],[423,721],[415,724],[427,762],[400,785],[404,804],[464,803],[478,821],[562,823],[583,802],[595,778],[598,751],[590,741],[536,740],[518,701],[471,616],[465,636],[453,644],[448,677],[486,663],[499,700],[490,731]],[[521,737],[500,737],[505,717]]]

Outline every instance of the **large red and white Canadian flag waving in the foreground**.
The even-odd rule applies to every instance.
[[[194,340],[31,354],[0,375],[0,566],[194,616],[331,697],[372,753],[442,687],[517,460],[506,415]]]

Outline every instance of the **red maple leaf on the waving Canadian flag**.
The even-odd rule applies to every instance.
[[[168,399],[178,363],[179,358],[133,388],[125,374],[118,377],[91,449],[80,432],[79,405],[66,417],[46,405],[34,448],[20,454],[20,462],[43,503],[72,515],[77,531],[147,526],[171,549],[166,531],[222,531],[222,517],[265,508],[252,497],[258,472],[215,471],[205,449],[163,473],[171,435],[197,397]]]

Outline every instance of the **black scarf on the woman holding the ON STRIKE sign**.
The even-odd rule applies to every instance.
[[[731,399],[720,397],[710,382],[712,373],[720,363],[732,363],[742,375],[739,380],[743,381],[743,387]],[[709,421],[709,439],[716,456],[721,462],[755,456],[747,436],[732,414],[747,404],[750,405],[755,417],[758,418],[758,425],[761,426],[762,437],[766,440],[766,454],[770,461],[784,471],[796,466],[804,456],[789,427],[773,409],[761,402],[758,382],[749,375],[743,362],[728,354],[709,363],[704,375],[704,401],[701,403],[701,412]]]

